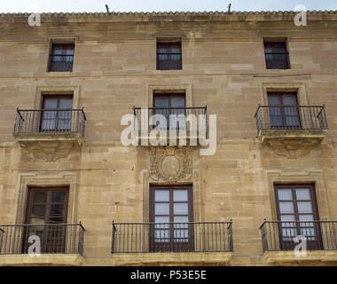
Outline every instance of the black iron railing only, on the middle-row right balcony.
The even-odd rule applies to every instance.
[[[327,130],[325,106],[258,106],[260,130]]]

